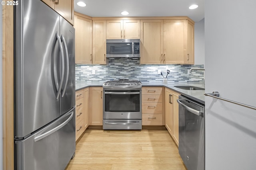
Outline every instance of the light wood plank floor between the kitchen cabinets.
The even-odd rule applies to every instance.
[[[139,130],[87,129],[66,170],[186,170],[165,127]]]

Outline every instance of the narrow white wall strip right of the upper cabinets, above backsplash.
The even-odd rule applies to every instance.
[[[195,23],[195,64],[204,64],[204,18]]]

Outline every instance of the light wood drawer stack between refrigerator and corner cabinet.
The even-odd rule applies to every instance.
[[[82,135],[88,127],[88,88],[76,91],[76,140]]]

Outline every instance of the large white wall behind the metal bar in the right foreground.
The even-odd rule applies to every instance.
[[[217,5],[216,5],[217,4]],[[205,91],[256,107],[256,0],[205,0]],[[256,110],[205,97],[206,170],[255,170]]]

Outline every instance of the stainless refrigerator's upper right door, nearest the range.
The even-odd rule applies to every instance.
[[[75,29],[60,16],[60,38],[64,49],[64,82],[60,99],[61,114],[75,106]]]

